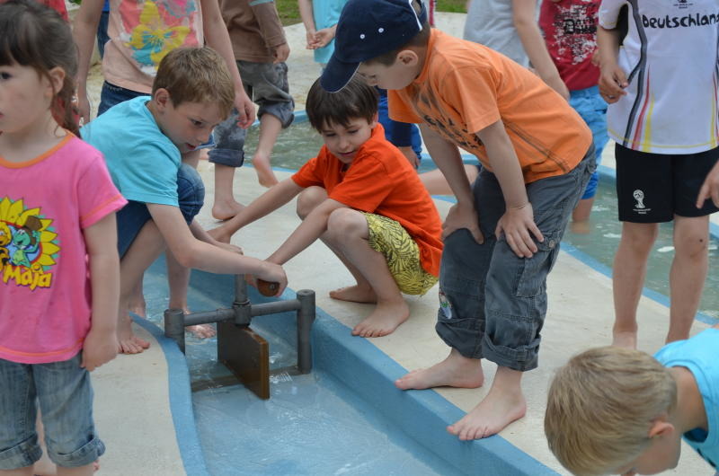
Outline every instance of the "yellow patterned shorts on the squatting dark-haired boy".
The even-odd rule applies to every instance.
[[[437,277],[422,269],[420,248],[399,222],[362,212],[369,228],[369,246],[385,257],[387,268],[405,295],[423,295]]]

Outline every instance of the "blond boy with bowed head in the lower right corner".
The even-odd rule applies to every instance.
[[[719,324],[654,357],[617,347],[573,357],[549,389],[550,449],[574,474],[655,474],[677,466],[683,438],[716,471],[717,348]]]

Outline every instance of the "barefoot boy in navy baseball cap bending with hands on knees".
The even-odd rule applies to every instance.
[[[546,276],[574,205],[594,171],[581,117],[537,75],[470,41],[431,30],[419,0],[350,0],[322,75],[328,91],[352,75],[389,91],[390,117],[421,123],[457,196],[445,221],[436,329],[450,347],[401,389],[492,388],[450,425],[460,439],[498,433],[526,412],[523,372],[537,367]],[[459,149],[483,164],[473,187]]]

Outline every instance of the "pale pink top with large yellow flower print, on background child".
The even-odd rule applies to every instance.
[[[205,43],[200,0],[110,0],[108,83],[150,93],[160,61],[174,48]]]

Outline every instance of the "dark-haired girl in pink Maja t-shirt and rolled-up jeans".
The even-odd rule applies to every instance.
[[[88,371],[117,353],[125,199],[75,137],[70,28],[32,0],[0,4],[0,473],[93,473],[104,445]]]

